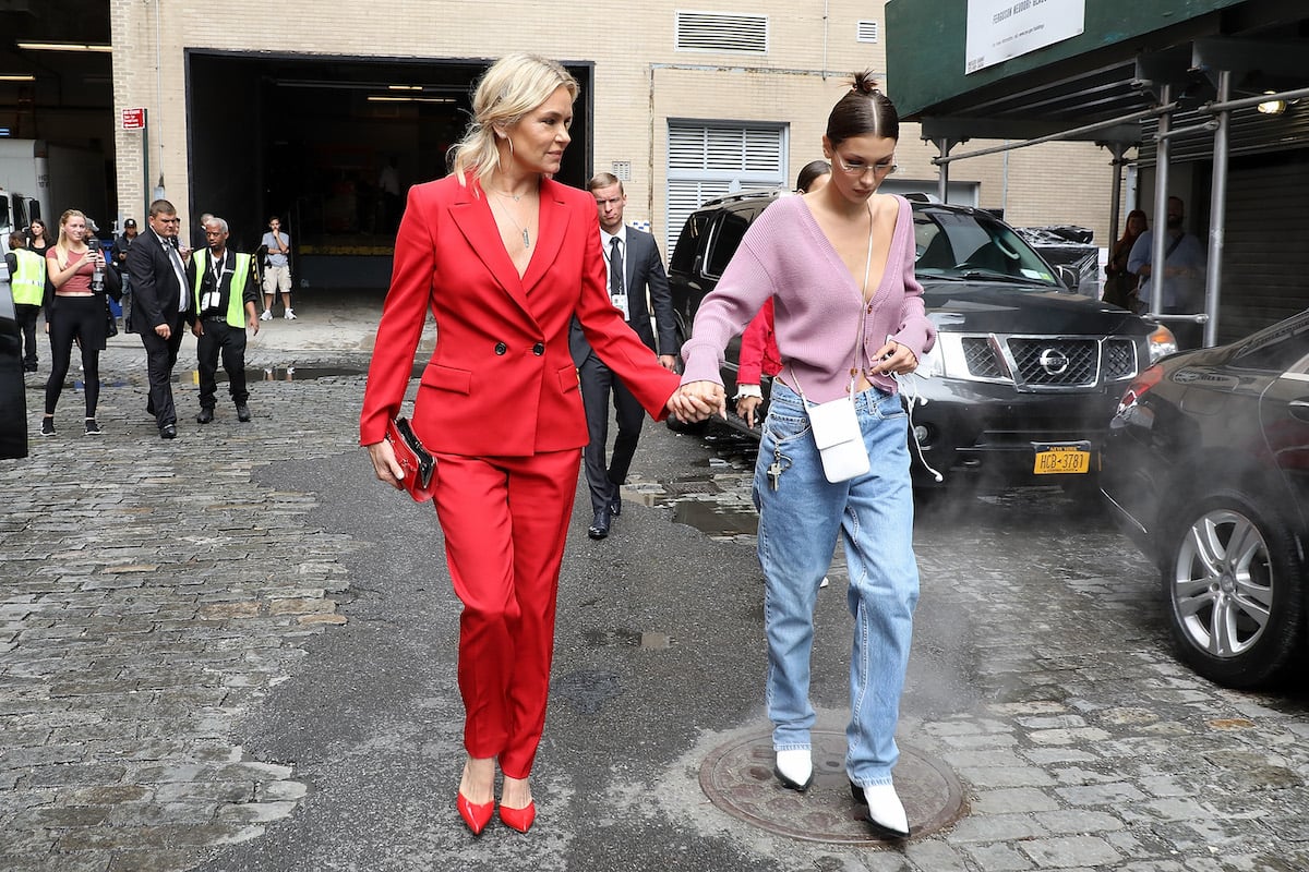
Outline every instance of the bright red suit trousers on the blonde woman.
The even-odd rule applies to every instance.
[[[541,743],[555,594],[581,448],[528,458],[439,454],[436,514],[459,616],[463,746],[526,778]]]

